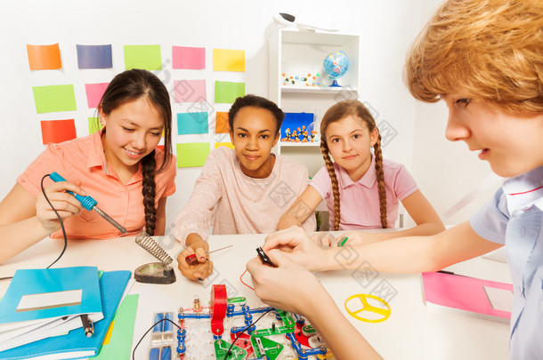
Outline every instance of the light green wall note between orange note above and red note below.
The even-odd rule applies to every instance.
[[[74,85],[33,86],[38,114],[77,110]]]

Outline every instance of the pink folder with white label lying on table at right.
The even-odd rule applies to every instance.
[[[463,314],[508,323],[513,284],[444,272],[422,273],[425,303]]]

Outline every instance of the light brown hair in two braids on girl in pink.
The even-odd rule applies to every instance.
[[[336,103],[331,108],[328,108],[326,114],[322,117],[320,123],[320,151],[324,158],[324,163],[328,170],[330,180],[332,180],[332,194],[334,195],[334,230],[339,229],[339,221],[341,219],[341,206],[339,201],[339,184],[337,182],[334,163],[329,156],[328,144],[326,142],[326,128],[329,124],[342,120],[347,116],[356,116],[367,124],[369,132],[377,129],[375,119],[369,113],[359,100],[344,100]],[[385,192],[385,172],[383,171],[383,153],[381,151],[381,134],[377,136],[377,142],[373,145],[375,155],[375,167],[377,172],[377,186],[379,192],[379,210],[381,213],[381,226],[388,228],[386,220],[386,192]]]

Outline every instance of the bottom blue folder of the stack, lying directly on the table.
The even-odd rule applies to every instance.
[[[108,271],[100,278],[101,307],[104,318],[94,324],[93,336],[85,337],[82,327],[66,335],[38,340],[19,348],[0,352],[1,360],[14,359],[77,359],[96,356],[108,332],[119,301],[125,292],[131,272]]]

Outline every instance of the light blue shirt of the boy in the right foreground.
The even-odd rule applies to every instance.
[[[505,244],[515,289],[512,359],[543,358],[543,166],[507,180],[470,219],[474,231]]]

